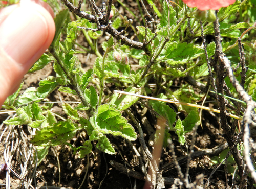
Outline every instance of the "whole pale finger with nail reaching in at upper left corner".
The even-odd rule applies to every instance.
[[[41,0],[21,0],[0,9],[0,107],[50,46],[54,13]]]

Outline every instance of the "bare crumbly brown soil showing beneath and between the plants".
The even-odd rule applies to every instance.
[[[131,1],[131,7],[134,4],[135,1]],[[123,11],[125,12],[125,10]],[[139,15],[138,10],[135,10],[134,8],[133,11]],[[128,12],[125,13],[129,14]],[[93,62],[96,58],[93,54],[79,54],[78,56],[82,63],[82,67],[85,70],[92,67]],[[133,62],[130,63],[133,64]],[[22,91],[24,91],[28,87],[38,87],[39,81],[45,79],[49,75],[55,76],[51,64],[48,64],[44,69],[39,70],[33,74],[27,74],[23,80],[24,86]],[[114,84],[112,85],[109,85],[110,89],[115,88]],[[62,93],[57,90],[55,90],[48,99],[50,101],[78,101],[78,98],[76,96],[67,95],[66,93]],[[173,105],[170,106],[173,107]],[[212,105],[206,103],[205,106]],[[62,111],[60,103],[55,103],[51,111],[61,116],[65,116],[65,112]],[[146,145],[148,146],[148,148],[150,148],[150,151],[152,151],[152,147],[148,145],[148,141],[150,140],[150,135],[155,131],[157,121],[155,119],[155,116],[150,110],[143,108],[141,106],[141,103],[136,103],[135,105],[133,105],[131,107],[131,111],[139,120],[144,132]],[[0,116],[0,124],[5,119],[7,119],[9,115],[13,116],[12,113],[2,114]],[[123,116],[128,118],[125,113],[123,113]],[[184,115],[180,114],[179,116],[183,116],[184,119]],[[129,120],[129,122],[133,125],[131,120]],[[212,171],[216,168],[216,164],[212,162],[211,159],[214,156],[217,156],[218,159],[218,153],[225,149],[225,146],[221,146],[220,148],[218,148],[222,148],[222,150],[217,152],[209,153],[209,151],[206,150],[215,147],[217,148],[218,145],[223,145],[225,141],[220,135],[218,135],[222,133],[222,129],[220,129],[218,115],[203,111],[202,124],[203,128],[199,126],[197,129],[196,143],[194,146],[195,156],[193,156],[193,159],[189,162],[189,180],[193,182],[195,181],[196,176],[203,174],[202,178],[205,183],[206,180],[210,177]],[[0,125],[0,133],[5,130],[5,127],[6,126],[4,124]],[[18,133],[20,131],[19,129],[22,129],[24,130],[25,134],[28,134],[28,132],[26,132],[28,130],[27,127],[27,125],[23,125],[20,126],[20,128],[14,128],[14,130],[16,133]],[[5,138],[7,137],[8,131],[9,130],[7,129],[0,143],[0,164],[4,164],[5,162],[4,146]],[[138,133],[136,128],[135,131]],[[187,161],[184,158],[187,157],[188,152],[190,151],[189,148],[193,133],[190,132],[186,135],[187,143],[184,146],[180,145],[180,143],[178,142],[178,137],[174,132],[170,132],[170,134],[173,139],[176,157],[178,159],[182,172],[185,173]],[[108,135],[108,137],[111,143],[115,144],[115,155],[104,154],[101,151],[97,150],[97,148],[93,148],[94,154],[91,153],[89,157],[86,156],[85,158],[79,159],[78,155],[73,154],[72,149],[67,145],[50,147],[48,155],[38,165],[36,169],[37,174],[35,182],[37,183],[37,188],[45,188],[43,186],[46,186],[46,183],[47,186],[49,186],[48,188],[78,188],[81,185],[82,180],[84,179],[84,175],[86,175],[86,173],[87,177],[85,178],[85,182],[83,183],[81,188],[143,188],[145,181],[143,180],[143,173],[140,169],[139,157],[132,149],[132,146],[134,146],[138,151],[140,151],[141,145],[139,139],[133,141],[131,146],[128,141],[121,137],[113,137],[111,135]],[[69,143],[73,146],[79,147],[83,144],[84,139],[87,139],[87,136],[85,136],[84,132],[80,132],[77,133],[76,137],[69,141]],[[27,145],[29,145],[28,140],[26,141]],[[15,169],[19,173],[21,161],[18,154],[19,150],[16,150],[13,154],[11,164],[13,166],[13,169]],[[59,165],[57,158],[59,159]],[[60,167],[60,172],[58,166]],[[178,178],[177,171],[173,164],[172,154],[168,147],[164,148],[162,151],[159,168],[160,170],[163,170],[163,177],[170,179]],[[222,166],[220,166],[218,170],[211,175],[208,188],[227,188],[227,185],[232,185],[232,175],[230,173],[225,174],[225,170],[225,165],[222,164]],[[132,173],[134,174],[132,175]],[[0,172],[1,188],[5,188],[5,175],[5,171]],[[12,188],[19,187],[19,183],[21,181],[13,173],[10,173],[10,180]],[[34,181],[32,182],[32,184],[33,183]],[[170,188],[170,184],[172,184],[172,182],[169,182],[169,184],[167,183],[165,185],[166,188]],[[252,187],[252,182],[249,180],[248,188]]]

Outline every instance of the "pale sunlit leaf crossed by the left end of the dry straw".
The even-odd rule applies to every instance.
[[[137,94],[142,93],[141,89],[138,89],[135,87],[128,87],[124,91],[131,92],[131,93],[137,93]],[[112,96],[112,100],[109,104],[115,104],[117,109],[120,111],[129,108],[130,106],[132,106],[135,102],[137,102],[139,100],[139,97],[135,97],[135,96],[131,96],[131,95],[121,95],[119,98],[118,97],[119,97],[119,94],[115,93]]]

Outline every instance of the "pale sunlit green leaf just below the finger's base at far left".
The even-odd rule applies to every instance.
[[[14,102],[15,107],[25,106],[33,102],[39,102],[42,98],[36,96],[36,88],[27,88],[22,95]]]

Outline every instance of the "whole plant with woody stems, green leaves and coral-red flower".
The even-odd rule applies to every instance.
[[[56,34],[49,51],[30,69],[33,73],[53,63],[55,75],[41,80],[37,88],[27,88],[22,95],[19,95],[23,86],[20,85],[3,106],[16,112],[16,116],[4,124],[31,128],[30,142],[37,146],[39,162],[50,146],[62,144],[70,146],[80,158],[93,153],[95,148],[115,154],[118,144],[111,142],[112,136],[130,142],[136,140],[138,133],[143,146],[143,131],[131,113],[132,107],[150,109],[154,122],[157,118],[166,120],[163,146],[171,149],[171,133],[176,133],[179,143],[184,145],[185,134],[201,123],[202,112],[197,107],[174,107],[155,100],[138,103],[139,97],[114,93],[114,90],[124,90],[192,104],[201,101],[204,104],[206,98],[213,100],[220,112],[226,147],[229,146],[238,166],[237,184],[247,187],[247,167],[256,181],[248,134],[255,125],[253,100],[256,99],[253,43],[256,15],[251,8],[252,0],[207,3],[184,0],[187,5],[181,1],[147,0],[146,5],[136,1],[141,18],[120,0],[115,4],[102,3],[102,7],[90,0],[87,2],[90,8],[82,4],[83,1],[61,1],[67,9],[61,10],[54,0],[47,1],[57,12]],[[131,18],[119,12],[120,5]],[[81,38],[87,46],[82,45]],[[82,69],[82,60],[77,56],[81,53],[97,56],[91,69]],[[54,102],[48,99],[55,90],[79,99],[79,103],[59,102],[65,116],[51,109]],[[230,114],[241,117],[242,122],[231,119]],[[80,133],[85,133],[81,146],[69,143]],[[153,146],[159,137],[157,131],[153,129],[148,135],[151,135],[148,143]],[[196,132],[194,138],[195,135]],[[241,140],[244,144],[240,144]],[[195,139],[191,143],[190,158]],[[238,145],[244,145],[244,157]],[[152,160],[148,148],[143,150]],[[161,170],[168,171],[165,168],[155,171]],[[179,175],[189,188],[187,175],[181,172]],[[156,187],[152,178],[146,176],[145,179]]]

